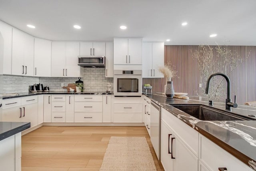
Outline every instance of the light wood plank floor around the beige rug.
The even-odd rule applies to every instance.
[[[111,136],[146,137],[145,127],[43,126],[22,136],[22,171],[98,171]]]

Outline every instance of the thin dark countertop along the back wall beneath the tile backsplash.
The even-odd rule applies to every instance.
[[[113,92],[106,93],[106,92],[82,92],[82,93],[75,93],[75,92],[66,92],[66,91],[42,91],[42,92],[36,92],[36,93],[31,93],[31,92],[26,92],[26,93],[17,93],[17,95],[12,95],[12,96],[3,96],[3,99],[12,99],[12,98],[17,98],[17,97],[25,97],[25,96],[31,96],[31,95],[41,95],[41,94],[113,94]]]

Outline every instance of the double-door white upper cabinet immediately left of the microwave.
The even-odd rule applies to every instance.
[[[52,77],[83,77],[78,56],[79,42],[52,42]]]

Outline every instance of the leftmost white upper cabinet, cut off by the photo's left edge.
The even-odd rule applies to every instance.
[[[3,73],[12,74],[12,27],[0,22],[0,33],[4,38]]]

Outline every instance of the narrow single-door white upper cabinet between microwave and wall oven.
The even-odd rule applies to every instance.
[[[105,77],[113,77],[113,42],[106,42]]]

